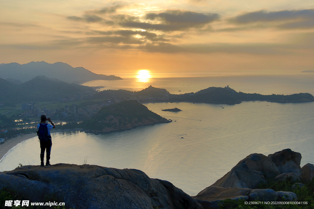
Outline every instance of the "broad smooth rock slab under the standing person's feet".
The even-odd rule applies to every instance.
[[[97,165],[22,166],[0,172],[0,189],[3,187],[30,202],[54,196],[67,208],[203,208],[171,183],[161,184],[140,170]],[[169,188],[187,207],[174,202]]]

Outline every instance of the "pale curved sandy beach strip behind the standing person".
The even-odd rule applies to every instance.
[[[73,129],[57,129],[57,130],[51,130],[51,133],[57,133],[57,132],[65,132],[65,131],[80,131],[82,130],[81,128],[73,128]],[[9,138],[7,139],[3,144],[0,144],[0,161],[8,153],[10,149],[12,149],[14,146],[17,144],[30,139],[37,137],[36,133],[25,133],[25,134],[20,134],[17,137]]]

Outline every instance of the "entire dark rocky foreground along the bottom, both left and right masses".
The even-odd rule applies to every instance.
[[[65,208],[93,209],[218,209],[225,200],[233,201],[233,204],[297,201],[296,193],[304,195],[307,192],[311,196],[308,191],[313,189],[314,177],[314,165],[308,163],[301,168],[300,161],[301,154],[291,149],[268,156],[250,154],[213,185],[204,185],[206,188],[196,196],[187,195],[168,181],[151,179],[136,169],[63,163],[45,167],[25,165],[0,172],[0,192],[30,202],[56,201],[65,202]],[[272,182],[271,185],[278,182],[289,191],[267,188],[268,182]],[[299,198],[299,201],[309,200]]]

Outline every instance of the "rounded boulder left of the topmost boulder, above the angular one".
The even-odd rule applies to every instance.
[[[263,154],[250,154],[237,165],[245,163],[249,168],[260,171],[263,173],[265,179],[273,180],[277,175],[280,174],[279,169],[273,163],[272,159]]]

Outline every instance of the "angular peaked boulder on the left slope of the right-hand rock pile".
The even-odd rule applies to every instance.
[[[245,163],[242,163],[233,167],[211,186],[254,189],[261,183],[267,183],[262,172],[250,169]]]

